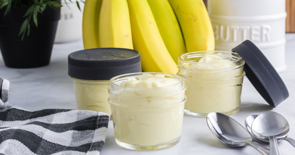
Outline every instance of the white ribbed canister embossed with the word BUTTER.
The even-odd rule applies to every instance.
[[[285,62],[285,0],[208,0],[215,50],[231,51],[251,40],[278,72]]]

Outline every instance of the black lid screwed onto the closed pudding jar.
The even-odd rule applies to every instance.
[[[68,75],[77,79],[109,80],[141,72],[140,53],[126,48],[92,48],[68,56]]]

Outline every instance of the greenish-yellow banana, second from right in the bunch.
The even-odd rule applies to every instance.
[[[186,53],[186,45],[177,18],[168,0],[148,0],[163,41],[175,63]]]

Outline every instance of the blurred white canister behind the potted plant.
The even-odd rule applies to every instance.
[[[55,35],[55,43],[65,43],[82,38],[82,17],[84,3],[78,1],[81,11],[78,9],[76,1],[62,1],[60,9],[60,21]]]

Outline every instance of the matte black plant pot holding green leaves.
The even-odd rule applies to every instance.
[[[48,65],[60,19],[60,8],[47,6],[42,14],[38,13],[38,27],[31,19],[30,34],[25,34],[23,40],[18,34],[28,7],[14,7],[4,16],[5,9],[0,9],[0,50],[5,65],[12,68]]]

